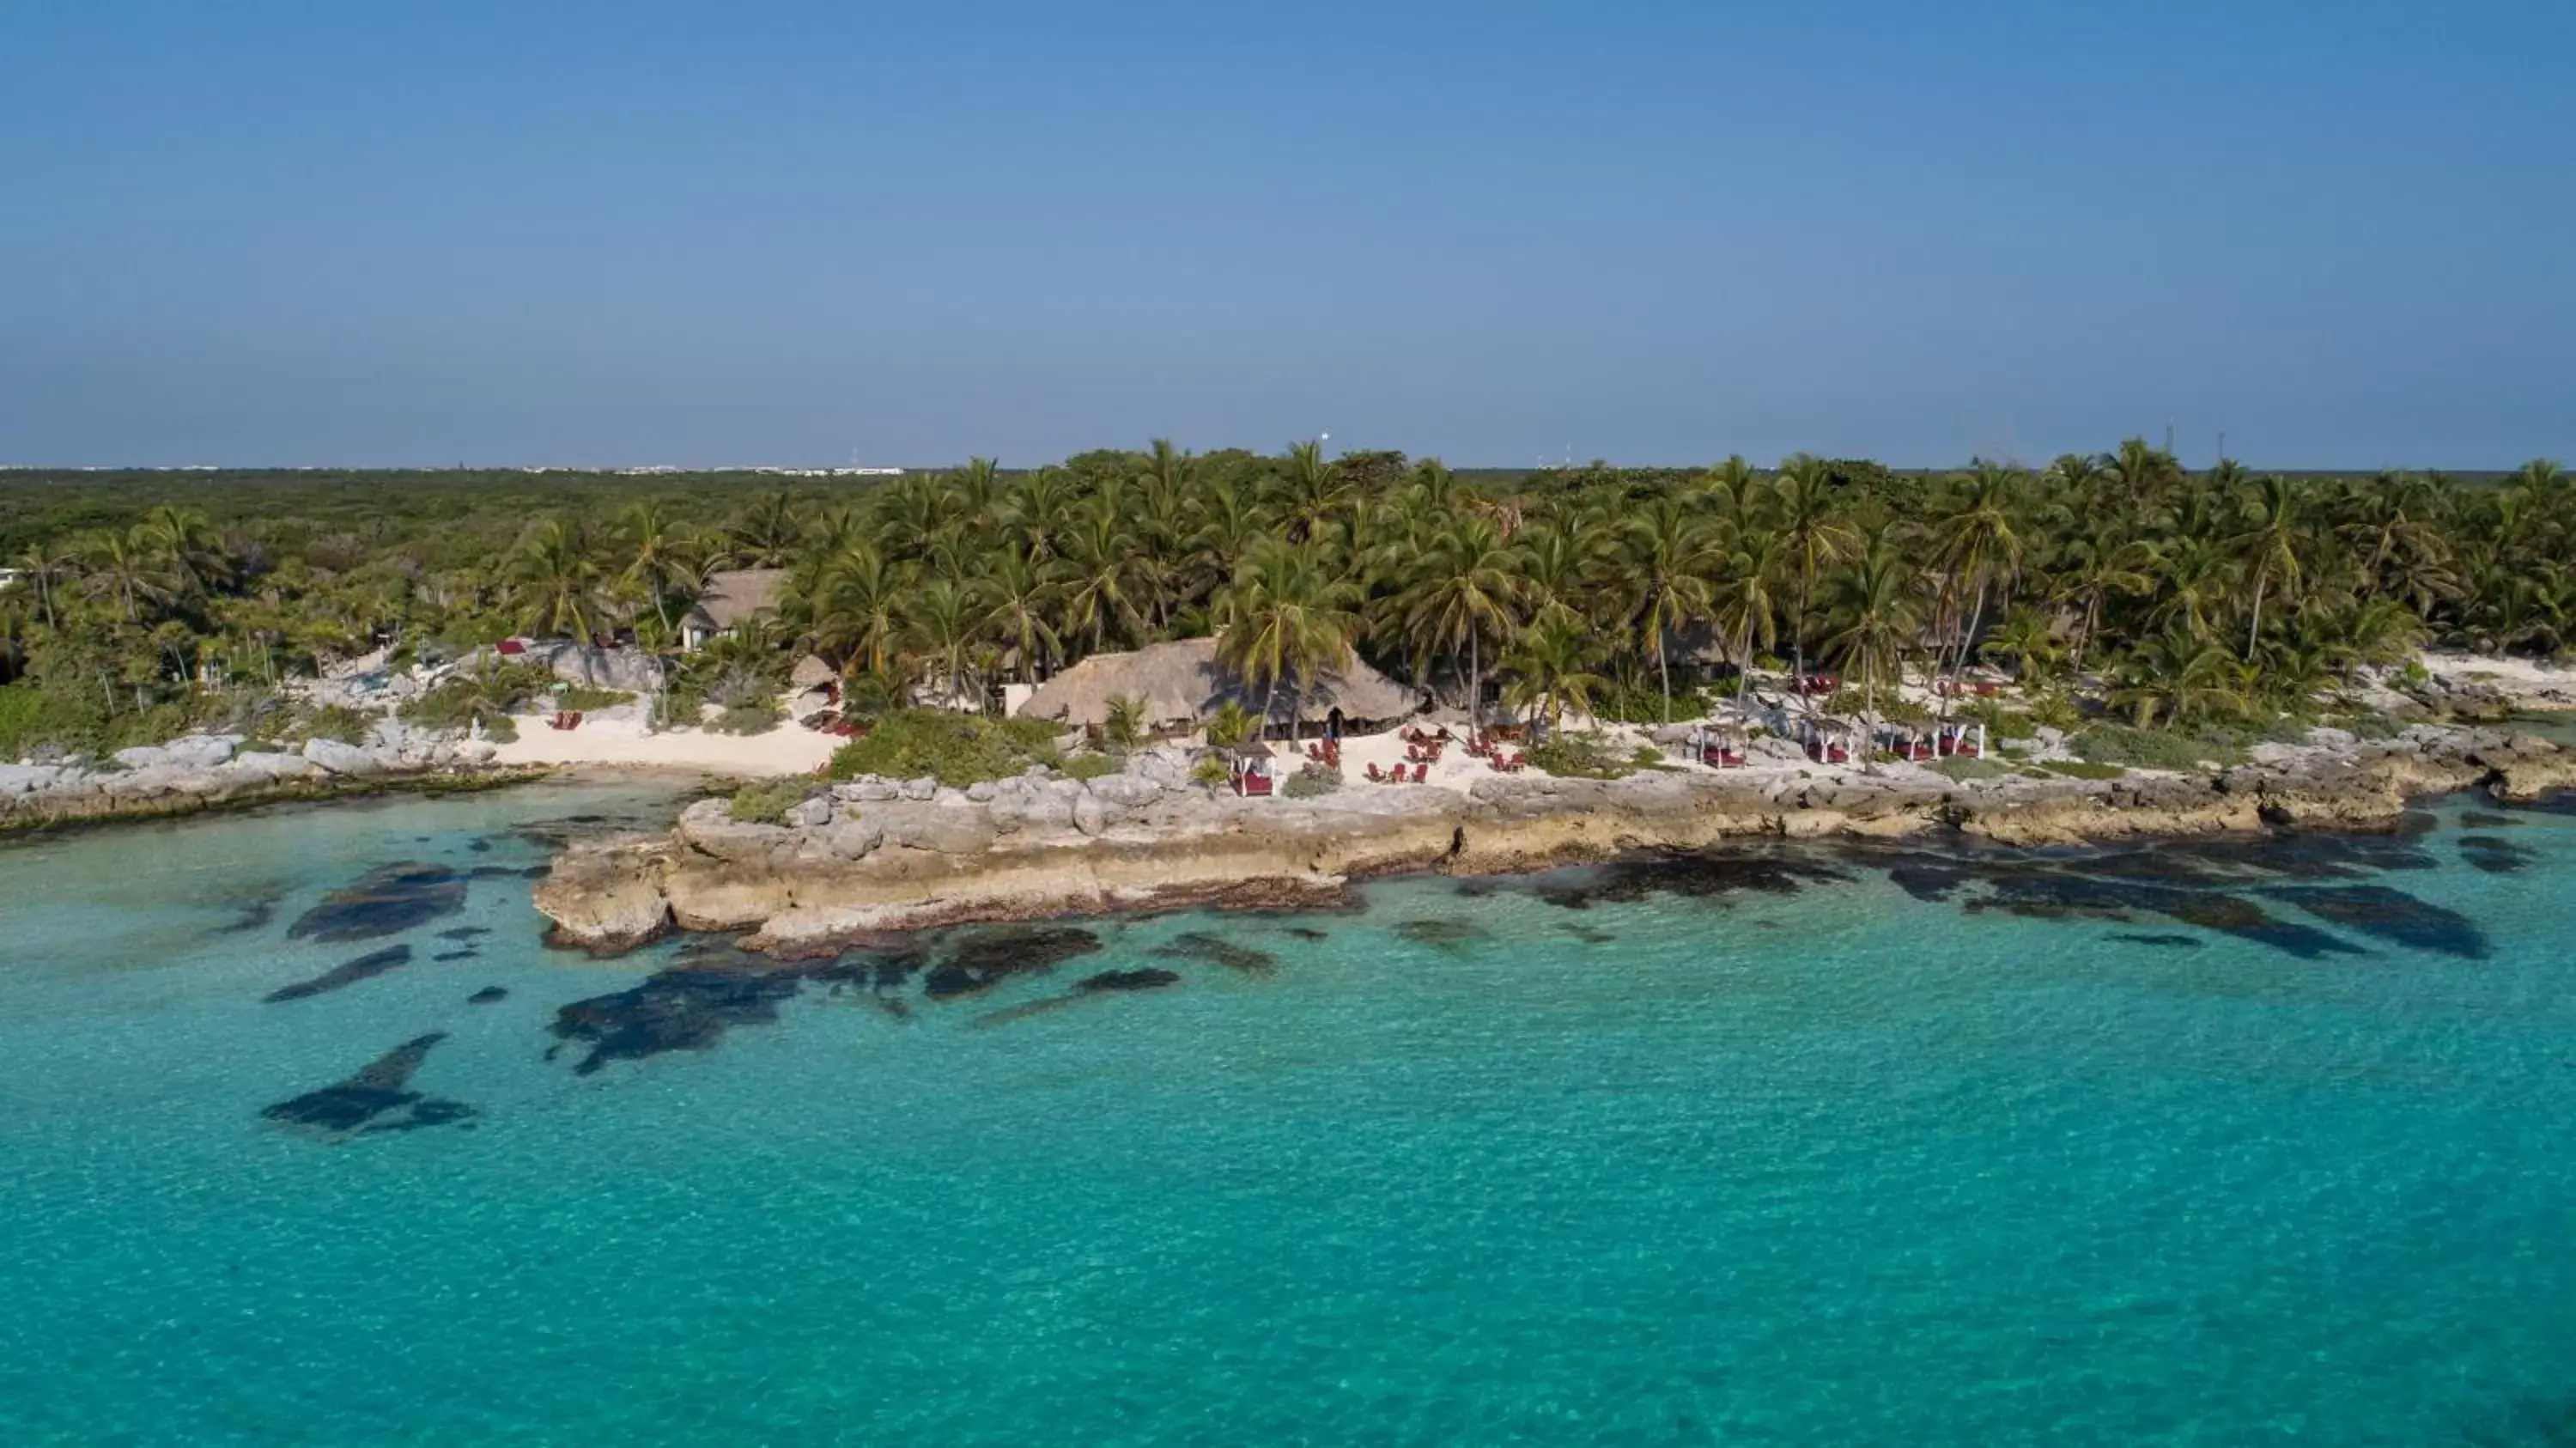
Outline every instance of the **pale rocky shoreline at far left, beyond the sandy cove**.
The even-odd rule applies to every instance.
[[[258,750],[242,734],[191,734],[95,763],[0,765],[0,832],[149,819],[317,799],[425,781],[495,783],[544,770],[492,765],[492,745],[379,721],[366,742],[307,739]]]

